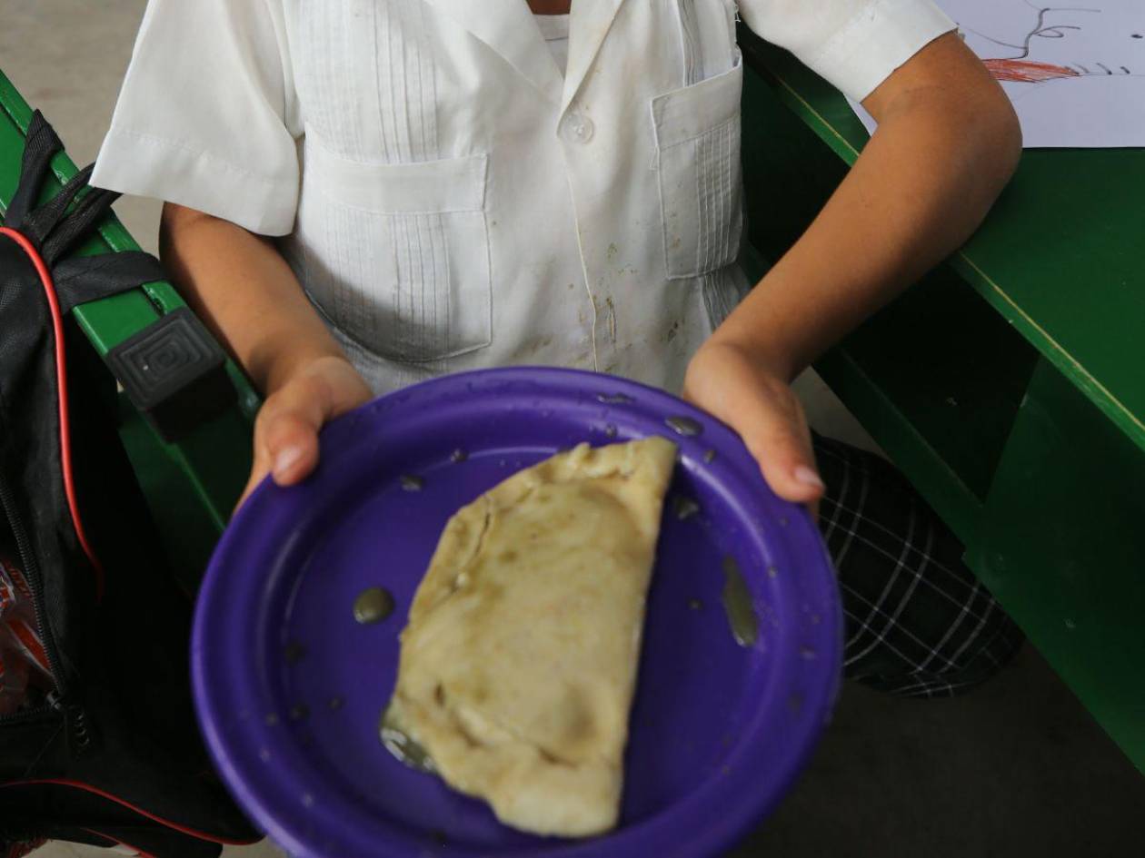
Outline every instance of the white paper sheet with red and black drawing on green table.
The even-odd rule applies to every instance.
[[[1145,146],[1145,0],[937,1],[1002,82],[1027,149]]]

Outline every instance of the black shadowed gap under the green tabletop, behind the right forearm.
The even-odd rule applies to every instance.
[[[803,233],[846,165],[749,69],[743,168],[749,241],[766,270]],[[968,333],[969,332],[969,333]],[[960,533],[981,501],[1036,351],[940,267],[816,362],[879,443]]]

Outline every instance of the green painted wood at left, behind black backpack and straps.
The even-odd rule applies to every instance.
[[[24,134],[31,117],[31,108],[0,72],[0,214],[16,189]],[[52,169],[54,178],[45,183],[45,199],[76,174],[76,165],[66,152],[53,159]],[[134,249],[139,249],[139,245],[119,220],[109,214],[95,235],[74,253],[92,255]],[[78,307],[74,316],[96,351],[106,355],[109,349],[161,315],[183,305],[175,288],[159,281]],[[160,523],[172,521],[167,515],[172,502],[182,510],[180,518],[185,533],[176,539],[168,529],[169,553],[179,557],[180,563],[195,564],[199,571],[230,517],[251,467],[251,427],[259,397],[232,362],[228,362],[227,372],[235,386],[237,406],[198,427],[177,444],[165,444],[142,422],[136,426],[128,421],[121,432],[133,463],[150,469],[150,472],[139,474],[141,482],[145,486],[164,487],[159,494],[148,498],[156,518]],[[189,540],[187,534],[195,535]]]

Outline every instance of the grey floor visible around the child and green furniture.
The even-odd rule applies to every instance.
[[[143,6],[0,0],[0,69],[77,161],[95,157]],[[117,210],[153,249],[158,206],[124,200]],[[819,379],[798,389],[816,428],[869,444]],[[1130,858],[1145,856],[1142,818],[1145,779],[1027,649],[965,699],[847,686],[807,773],[735,858]],[[106,853],[53,844],[38,858],[97,855]],[[224,855],[281,853],[261,844]]]

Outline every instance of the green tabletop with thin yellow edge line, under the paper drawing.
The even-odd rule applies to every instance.
[[[779,97],[853,162],[868,135],[843,96],[745,29],[741,43]],[[1145,150],[1027,150],[950,265],[1145,448],[1143,189]]]

